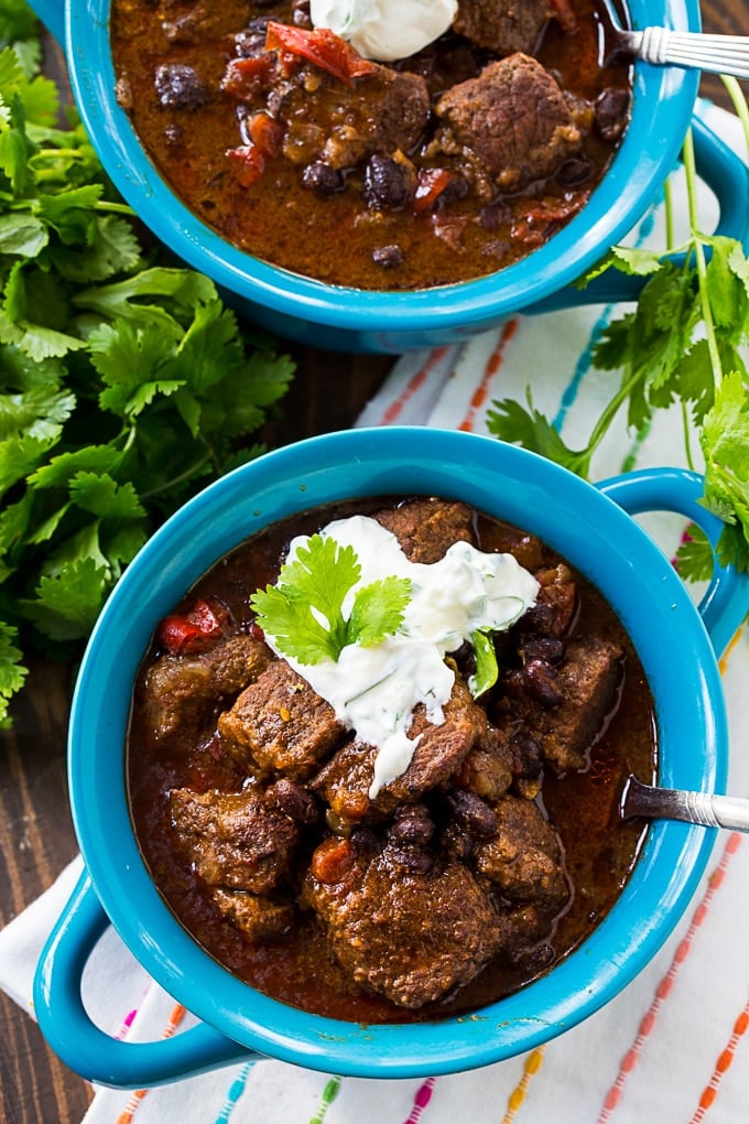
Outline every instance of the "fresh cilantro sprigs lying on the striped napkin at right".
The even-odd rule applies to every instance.
[[[734,79],[723,80],[742,121],[749,145],[749,111]],[[611,398],[596,419],[587,444],[570,448],[552,423],[512,399],[493,402],[488,428],[587,478],[591,461],[620,410],[639,433],[657,410],[679,404],[687,463],[704,472],[702,502],[724,523],[718,556],[749,569],[749,375],[742,351],[749,342],[749,262],[742,245],[700,228],[697,175],[691,134],[683,152],[689,235],[678,254],[664,257],[648,250],[615,246],[583,280],[608,269],[647,277],[637,306],[612,320],[593,348],[593,366],[621,372]],[[667,185],[668,192],[668,185]],[[673,214],[673,199],[667,193]],[[670,219],[669,219],[670,228]],[[681,259],[681,264],[678,263]],[[698,443],[701,462],[694,453]],[[696,527],[679,547],[679,572],[704,579],[712,552]]]

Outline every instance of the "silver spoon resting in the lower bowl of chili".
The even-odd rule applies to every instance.
[[[689,792],[678,788],[643,785],[628,777],[619,801],[622,819],[682,819],[705,827],[730,827],[749,832],[749,800],[712,792]]]

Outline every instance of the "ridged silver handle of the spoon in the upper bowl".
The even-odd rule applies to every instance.
[[[625,42],[632,54],[647,63],[749,79],[749,36],[672,31],[667,27],[646,27],[622,36],[622,45]]]

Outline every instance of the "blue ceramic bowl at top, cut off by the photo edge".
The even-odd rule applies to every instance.
[[[612,166],[587,206],[547,245],[515,265],[464,284],[419,292],[363,292],[311,281],[234,248],[175,198],[144,155],[115,99],[110,0],[30,0],[64,44],[75,100],[109,175],[150,229],[207,273],[227,300],[268,330],[340,351],[398,353],[456,343],[520,310],[627,300],[641,282],[606,278],[578,292],[572,282],[619,242],[658,197],[692,119],[695,71],[638,63],[632,119]],[[698,0],[629,0],[634,27],[698,30]],[[720,233],[747,239],[749,176],[700,121],[703,179],[721,205]]]

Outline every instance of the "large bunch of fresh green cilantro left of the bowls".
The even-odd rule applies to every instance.
[[[70,658],[159,520],[258,452],[293,368],[148,246],[0,13],[0,723],[33,651]]]

